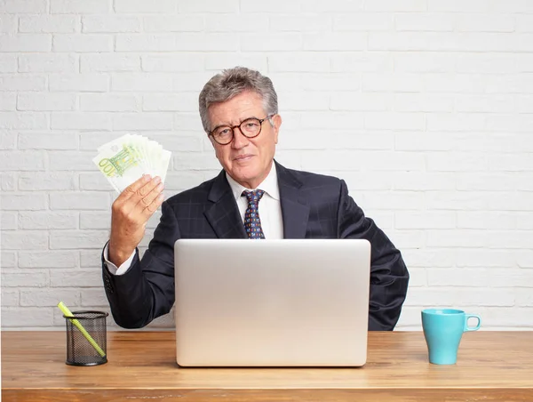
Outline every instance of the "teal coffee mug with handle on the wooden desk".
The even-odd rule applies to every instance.
[[[468,318],[476,318],[476,326],[468,326]],[[481,317],[463,310],[422,310],[422,328],[426,337],[429,362],[434,365],[455,365],[457,350],[464,332],[477,331]]]

